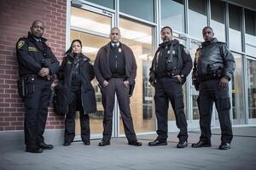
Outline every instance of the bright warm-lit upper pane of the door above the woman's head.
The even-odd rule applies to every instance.
[[[101,14],[95,14],[80,8],[71,8],[70,25],[83,29],[109,35],[111,18]]]

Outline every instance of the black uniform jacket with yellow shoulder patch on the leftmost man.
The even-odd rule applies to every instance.
[[[19,63],[19,74],[38,74],[43,67],[42,61],[48,59],[48,68],[50,75],[55,75],[58,71],[60,63],[55,58],[51,49],[46,45],[46,39],[41,38],[44,43],[44,50],[39,50],[37,47],[37,41],[32,37],[31,32],[28,32],[27,37],[21,37],[16,43],[16,54]],[[46,67],[46,66],[44,66]]]

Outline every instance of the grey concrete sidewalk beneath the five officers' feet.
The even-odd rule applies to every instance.
[[[211,148],[191,148],[200,133],[189,133],[189,147],[177,149],[177,133],[170,133],[168,145],[149,147],[156,135],[142,135],[143,146],[131,146],[125,138],[112,139],[111,145],[97,146],[75,142],[70,146],[55,145],[54,150],[42,154],[24,151],[21,146],[0,148],[1,170],[169,170],[169,169],[256,169],[256,127],[235,127],[230,150],[218,150],[219,129],[212,129]],[[23,141],[22,141],[23,142]]]

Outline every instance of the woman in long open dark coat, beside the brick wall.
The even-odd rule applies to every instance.
[[[95,91],[90,83],[95,77],[93,65],[90,64],[90,59],[82,54],[82,42],[79,39],[73,40],[65,54],[57,74],[59,86],[67,89],[67,97],[61,102],[67,109],[63,145],[71,144],[75,137],[76,111],[80,113],[81,138],[84,144],[89,145],[89,113],[96,112]]]

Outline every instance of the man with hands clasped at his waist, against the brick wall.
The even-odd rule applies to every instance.
[[[41,153],[53,149],[44,143],[44,127],[48,115],[50,86],[59,69],[59,61],[46,45],[44,23],[35,20],[27,37],[16,43],[19,65],[19,94],[26,107],[24,131],[26,151]]]

